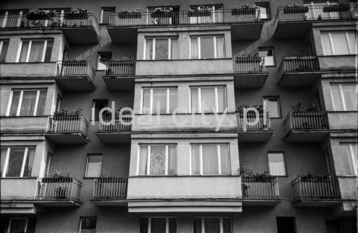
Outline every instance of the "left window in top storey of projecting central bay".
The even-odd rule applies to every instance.
[[[145,40],[144,60],[179,59],[177,38],[151,38]]]

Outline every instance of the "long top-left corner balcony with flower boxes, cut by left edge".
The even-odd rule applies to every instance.
[[[55,16],[2,15],[0,30],[61,30],[70,43],[99,43],[99,24],[94,13]]]

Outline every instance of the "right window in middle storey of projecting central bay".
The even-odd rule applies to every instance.
[[[222,113],[227,107],[225,87],[190,88],[190,112]]]

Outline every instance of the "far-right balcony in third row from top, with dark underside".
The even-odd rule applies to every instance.
[[[327,112],[289,112],[283,121],[286,142],[320,142],[329,133]]]

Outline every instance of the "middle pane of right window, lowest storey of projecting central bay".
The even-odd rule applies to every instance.
[[[203,174],[219,174],[216,145],[203,145]]]

